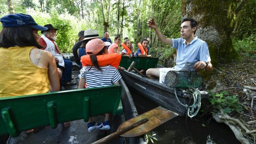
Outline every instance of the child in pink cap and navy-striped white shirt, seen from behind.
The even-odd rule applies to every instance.
[[[98,55],[108,54],[106,46],[110,46],[110,42],[103,42],[99,38],[90,40],[86,44],[86,54],[90,56],[90,60],[93,66],[84,66],[80,70],[80,82],[78,88],[95,88],[101,86],[111,86],[112,84],[119,84],[121,75],[118,70],[110,65],[99,66],[97,57]],[[94,130],[109,130],[109,116],[106,114],[104,122],[96,123],[89,118],[89,123],[87,124],[88,132]]]

